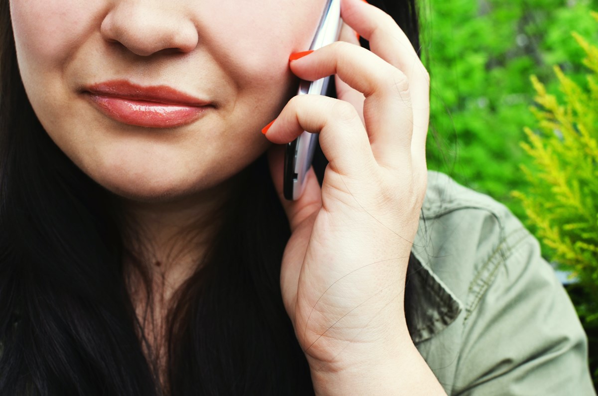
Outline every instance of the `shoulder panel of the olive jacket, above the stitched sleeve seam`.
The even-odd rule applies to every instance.
[[[505,205],[429,171],[413,253],[459,301],[465,318],[521,242],[530,240],[537,243]]]

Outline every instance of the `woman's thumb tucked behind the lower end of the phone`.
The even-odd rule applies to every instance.
[[[310,167],[309,172],[307,172],[305,190],[299,199],[292,201],[287,200],[284,197],[282,186],[285,150],[285,144],[272,145],[268,150],[267,156],[274,188],[276,188],[276,193],[280,198],[283,209],[285,209],[292,233],[304,220],[312,216],[322,207],[322,192],[312,166]]]

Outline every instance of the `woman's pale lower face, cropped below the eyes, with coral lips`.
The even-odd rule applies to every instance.
[[[41,124],[91,178],[151,202],[213,187],[266,149],[325,0],[11,0]]]

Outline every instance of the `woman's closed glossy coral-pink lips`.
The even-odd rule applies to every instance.
[[[213,103],[169,86],[139,86],[125,80],[105,81],[83,89],[99,111],[124,124],[171,128],[190,124]]]

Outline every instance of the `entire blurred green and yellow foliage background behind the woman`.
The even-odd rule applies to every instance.
[[[504,203],[538,236],[545,258],[565,274],[596,384],[598,49],[584,49],[572,32],[598,45],[598,0],[419,7],[431,74],[428,167]]]

